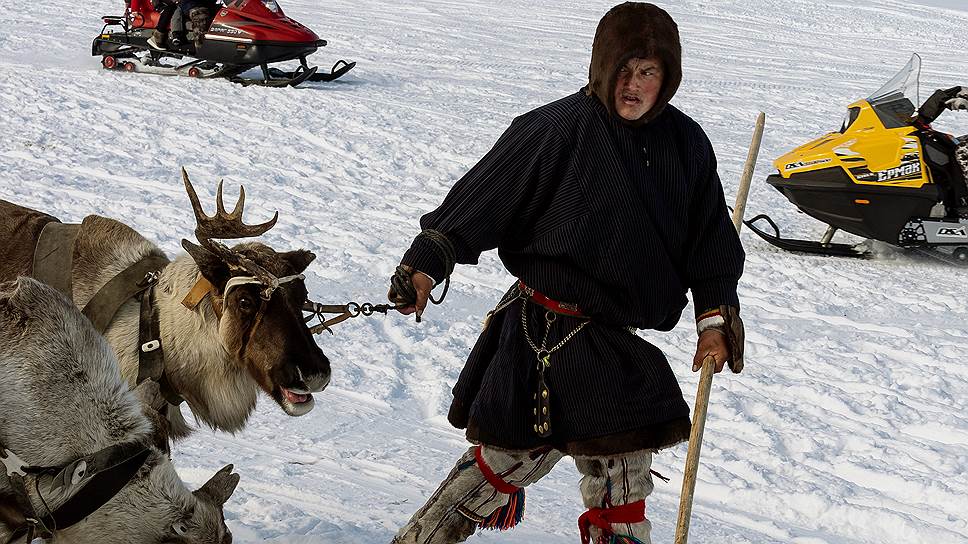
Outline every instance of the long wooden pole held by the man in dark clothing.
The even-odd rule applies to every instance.
[[[746,211],[746,199],[750,194],[750,182],[753,170],[756,168],[756,158],[760,154],[760,142],[763,139],[763,127],[766,124],[766,114],[760,112],[753,129],[753,141],[750,143],[749,155],[746,157],[746,167],[740,179],[739,191],[736,193],[736,206],[733,208],[733,225],[738,233],[743,226],[743,214]],[[699,452],[702,450],[702,433],[706,429],[706,411],[709,408],[709,391],[713,385],[713,374],[716,372],[716,359],[707,355],[702,361],[702,372],[699,375],[699,391],[696,393],[696,408],[693,410],[692,431],[689,433],[689,451],[686,453],[686,470],[682,478],[682,494],[679,499],[679,520],[676,522],[675,544],[686,544],[689,538],[689,520],[692,518],[692,498],[696,491],[696,474],[699,471]]]

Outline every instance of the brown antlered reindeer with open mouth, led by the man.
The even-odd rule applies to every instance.
[[[134,387],[150,378],[161,385],[167,400],[162,408],[166,440],[193,430],[178,409],[181,400],[198,420],[229,432],[243,428],[260,388],[287,414],[306,414],[314,406],[312,394],[330,379],[329,360],[302,314],[307,300],[302,272],[315,255],[305,250],[278,253],[258,242],[226,247],[216,239],[260,236],[275,225],[278,212],[265,223],[245,224],[245,189],[240,188],[234,210],[227,213],[219,182],[217,211],[208,216],[184,169],[182,178],[200,245],[182,240],[187,254],[170,263],[130,227],[93,215],[77,227],[73,242],[65,237],[45,245],[42,232],[67,226],[0,200],[0,281],[39,273],[65,276],[61,280],[67,292],[114,348],[128,384]],[[68,247],[71,258],[46,267],[46,272],[38,270],[48,254],[57,254],[49,249],[57,245]],[[101,293],[111,291],[113,283],[121,283],[117,278],[131,276],[132,270],[136,277],[127,283],[137,286],[115,297],[123,300],[111,308],[116,311],[92,310],[90,315],[89,307],[104,306]],[[146,340],[152,328],[154,334]]]

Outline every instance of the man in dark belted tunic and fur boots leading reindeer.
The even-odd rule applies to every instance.
[[[588,86],[526,113],[421,218],[391,300],[418,316],[454,262],[497,248],[519,278],[490,312],[449,419],[475,444],[396,544],[507,529],[523,488],[575,459],[583,542],[650,542],[652,454],[689,436],[689,407],[662,352],[692,291],[693,360],[742,368],[736,285],[744,253],[699,125],[669,105],[678,29],[652,4],[601,20]]]

